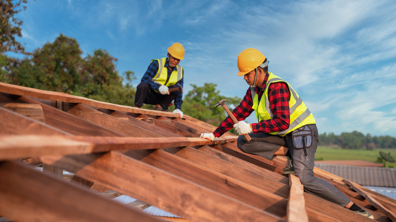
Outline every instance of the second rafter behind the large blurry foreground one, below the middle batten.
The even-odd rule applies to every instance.
[[[271,194],[275,194],[286,199],[289,197],[289,186],[287,186],[286,184],[274,181],[271,178],[265,177],[258,173],[254,173],[240,166],[231,164],[225,160],[210,156],[209,154],[206,154],[194,148],[171,147],[165,148],[163,150],[171,154],[175,154],[176,156],[180,156],[196,164],[199,164],[200,166],[207,167],[211,170],[222,173],[234,179],[238,179],[261,190],[265,190],[266,192],[269,192]]]

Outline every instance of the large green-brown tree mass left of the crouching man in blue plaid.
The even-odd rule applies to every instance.
[[[106,50],[97,49],[85,58],[81,55],[77,41],[60,34],[52,43],[34,50],[30,57],[8,59],[8,64],[4,62],[6,66],[2,68],[1,80],[104,102],[133,105],[135,89],[131,81],[135,77],[132,71],[123,73],[126,77],[124,83],[114,64],[117,59]]]

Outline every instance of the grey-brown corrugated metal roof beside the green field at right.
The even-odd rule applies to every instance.
[[[343,177],[362,186],[396,187],[396,169],[317,164],[315,167]]]

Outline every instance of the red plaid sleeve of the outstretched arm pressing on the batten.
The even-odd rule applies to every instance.
[[[251,99],[251,91],[250,88],[247,89],[245,97],[242,99],[241,103],[235,107],[234,110],[232,110],[232,115],[240,121],[246,119],[250,115],[251,112],[253,112],[252,109],[253,106],[253,100]],[[217,127],[215,131],[213,131],[213,135],[215,137],[220,137],[223,135],[225,132],[228,130],[232,129],[234,127],[234,122],[232,121],[231,117],[227,116],[223,122],[220,123],[220,125]]]

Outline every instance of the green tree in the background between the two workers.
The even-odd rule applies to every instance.
[[[231,102],[227,102],[227,106],[232,110],[242,100],[236,96],[221,96],[220,91],[216,90],[217,85],[213,83],[205,83],[202,87],[194,84],[190,84],[190,86],[193,89],[187,93],[183,100],[183,112],[214,126],[218,126],[227,116],[222,107],[214,106],[215,103],[222,99],[230,100]]]

